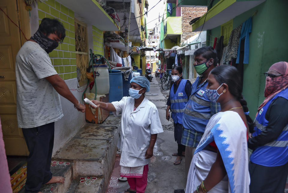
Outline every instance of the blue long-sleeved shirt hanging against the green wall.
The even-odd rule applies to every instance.
[[[252,29],[252,17],[250,17],[249,19],[247,19],[241,28],[241,36],[240,36],[240,40],[245,39],[245,43],[244,43],[244,59],[243,59],[243,63],[244,64],[248,64],[249,63],[249,34],[251,33],[251,29]],[[238,46],[238,53],[237,53],[237,59],[236,59],[236,64],[239,63],[239,53],[240,53],[240,45]]]

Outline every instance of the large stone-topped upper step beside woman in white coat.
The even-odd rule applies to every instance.
[[[73,178],[102,176],[106,187],[112,172],[121,117],[109,116],[103,124],[85,124],[52,159],[73,162]]]

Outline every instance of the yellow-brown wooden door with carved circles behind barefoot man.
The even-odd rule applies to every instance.
[[[23,24],[20,19],[23,2],[0,1],[1,9],[13,22],[20,25],[20,28]],[[7,155],[28,155],[22,129],[18,128],[17,124],[15,80],[15,58],[25,40],[20,35],[19,28],[2,10],[0,10],[0,117],[3,139]],[[25,14],[24,11],[22,13]],[[26,25],[29,26],[29,23]]]

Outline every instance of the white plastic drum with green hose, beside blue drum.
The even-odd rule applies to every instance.
[[[107,65],[94,65],[95,81],[97,86],[97,95],[105,95],[109,93],[109,72]],[[92,72],[92,68],[90,72]],[[95,93],[95,84],[91,89],[92,93]]]

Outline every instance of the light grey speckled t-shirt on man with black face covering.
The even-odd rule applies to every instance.
[[[15,73],[18,127],[38,127],[63,117],[60,95],[45,79],[57,72],[38,43],[23,44],[16,56]]]

